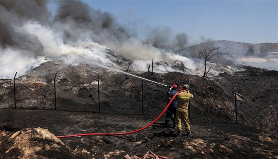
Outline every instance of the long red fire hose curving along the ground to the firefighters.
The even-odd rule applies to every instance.
[[[75,136],[89,136],[89,135],[125,135],[125,134],[132,134],[132,133],[136,133],[139,132],[141,130],[144,130],[145,128],[149,127],[150,125],[152,125],[155,121],[157,121],[163,114],[164,112],[167,110],[167,108],[170,106],[170,104],[172,103],[172,101],[174,100],[174,98],[177,96],[177,94],[179,94],[179,92],[177,92],[171,99],[171,101],[168,103],[168,105],[164,108],[164,110],[160,113],[159,116],[157,116],[157,118],[155,120],[153,120],[151,123],[149,123],[148,125],[146,125],[143,128],[134,130],[134,131],[130,131],[130,132],[124,132],[124,133],[88,133],[88,134],[76,134],[76,135],[64,135],[64,136],[57,136],[58,138],[69,138],[69,137],[75,137]]]

